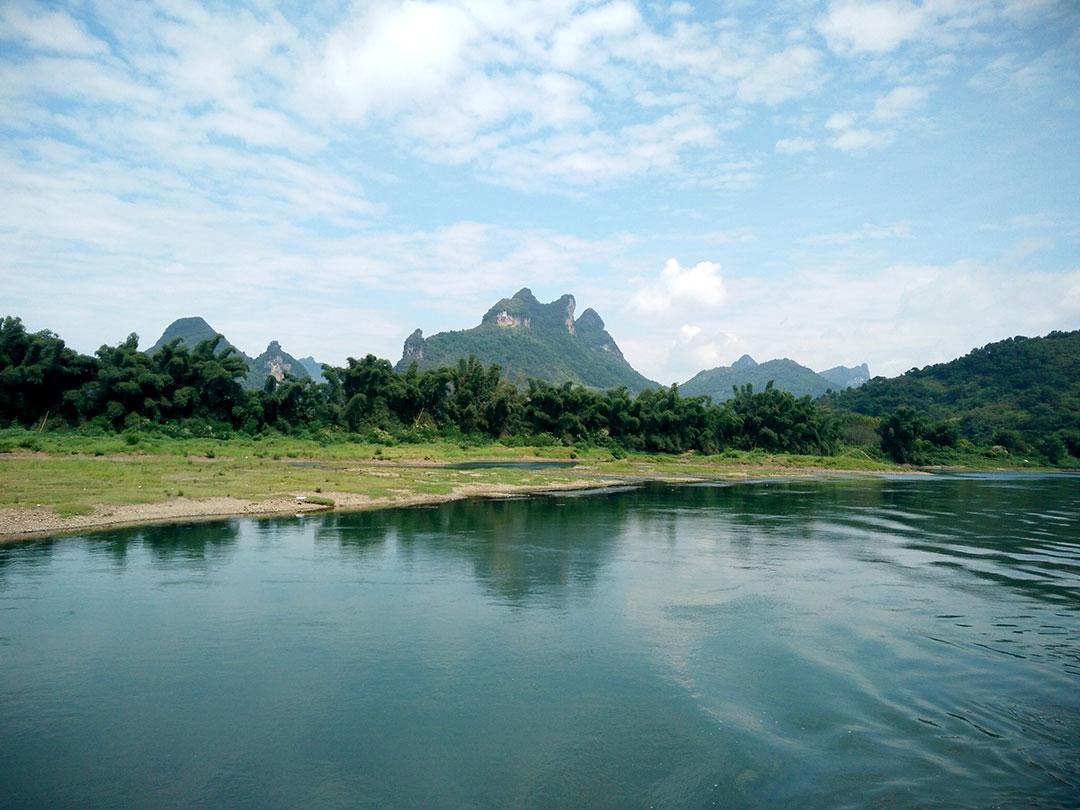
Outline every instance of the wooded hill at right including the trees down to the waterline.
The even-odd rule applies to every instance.
[[[950,448],[1050,463],[1080,457],[1080,330],[1015,337],[949,363],[827,396],[835,413],[880,420],[882,449],[924,462]],[[847,424],[865,431],[866,422]]]

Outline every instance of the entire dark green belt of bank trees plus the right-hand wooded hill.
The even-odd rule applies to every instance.
[[[246,359],[222,338],[180,339],[140,352],[130,336],[79,354],[50,332],[0,322],[0,427],[80,427],[178,437],[286,435],[386,444],[453,438],[652,453],[835,454],[840,446],[901,463],[1077,465],[1080,332],[1012,338],[894,379],[813,401],[771,381],[714,403],[677,387],[636,396],[572,382],[510,381],[475,357],[395,373],[367,355],[323,366],[321,381],[264,377],[245,387]]]

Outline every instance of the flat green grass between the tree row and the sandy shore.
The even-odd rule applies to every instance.
[[[578,468],[450,470],[435,464],[494,459],[572,460]],[[964,467],[991,469],[1001,459],[972,454]],[[598,478],[717,478],[798,471],[900,470],[860,449],[837,456],[728,450],[719,456],[612,453],[607,448],[508,447],[450,442],[408,445],[284,436],[254,440],[140,437],[0,431],[0,507],[44,507],[60,515],[96,507],[229,496],[245,500],[336,492],[373,499],[444,496],[469,485],[532,487]]]

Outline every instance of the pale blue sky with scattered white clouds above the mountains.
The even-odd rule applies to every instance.
[[[339,364],[523,286],[661,382],[1080,328],[1075,0],[0,0],[0,314]]]

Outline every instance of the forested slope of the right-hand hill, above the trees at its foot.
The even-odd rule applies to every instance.
[[[900,377],[832,394],[839,409],[885,416],[907,406],[927,422],[954,424],[980,445],[1043,448],[1080,442],[1080,330],[1014,337]],[[1009,445],[1014,445],[1010,447]]]

